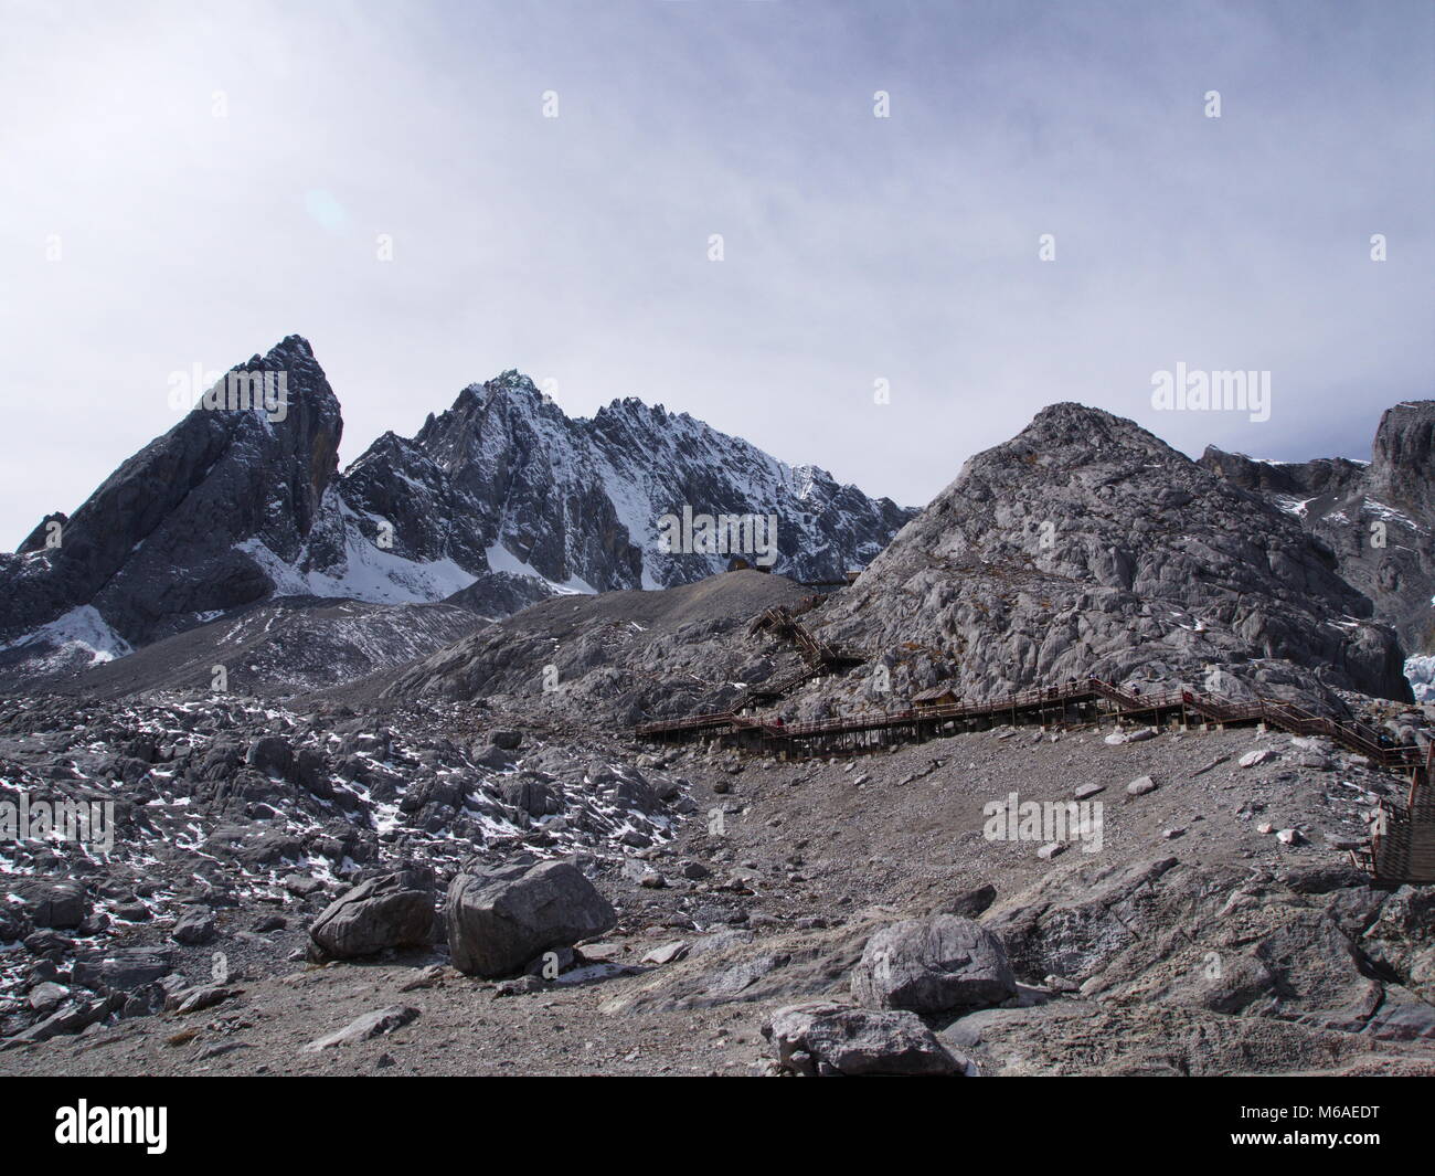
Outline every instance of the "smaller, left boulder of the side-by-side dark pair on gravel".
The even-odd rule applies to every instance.
[[[314,959],[356,959],[433,942],[433,872],[409,867],[362,882],[309,928]]]

